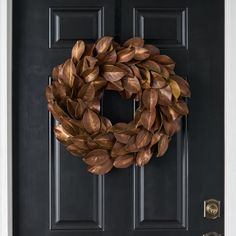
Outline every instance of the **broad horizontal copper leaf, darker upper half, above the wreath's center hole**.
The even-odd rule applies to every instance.
[[[104,65],[103,77],[110,82],[118,81],[126,75],[126,71],[114,65]]]

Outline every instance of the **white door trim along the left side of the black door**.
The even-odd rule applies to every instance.
[[[0,1],[0,235],[12,236],[12,0]]]

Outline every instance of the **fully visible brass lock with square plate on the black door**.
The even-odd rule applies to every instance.
[[[216,199],[205,200],[204,201],[204,217],[207,219],[212,219],[212,220],[219,218],[220,217],[220,201]]]

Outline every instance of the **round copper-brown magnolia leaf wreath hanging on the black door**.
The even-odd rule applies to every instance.
[[[108,36],[91,45],[77,41],[46,88],[48,109],[59,122],[56,138],[98,175],[163,156],[188,114],[183,97],[190,97],[189,84],[174,68],[169,56],[141,38],[123,45]],[[138,101],[132,121],[112,124],[101,115],[104,90]]]

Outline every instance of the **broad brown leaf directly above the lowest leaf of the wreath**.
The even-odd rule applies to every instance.
[[[85,158],[83,158],[83,161],[87,165],[94,166],[94,165],[101,165],[105,163],[108,159],[110,159],[110,156],[107,150],[95,149],[89,152],[85,156]]]

